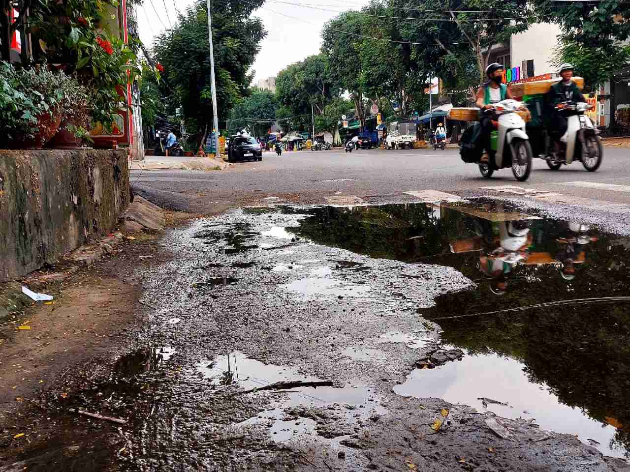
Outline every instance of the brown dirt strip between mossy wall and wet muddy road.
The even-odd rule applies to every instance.
[[[167,225],[192,216],[167,213]],[[20,281],[54,300],[32,303],[0,324],[0,464],[54,437],[59,425],[42,421],[42,410],[50,407],[45,403],[67,398],[85,381],[83,373],[95,378],[129,344],[128,327],[143,308],[142,285],[132,274],[169,257],[159,246],[160,236],[135,233],[113,254],[75,273],[67,273],[74,267],[61,259]]]

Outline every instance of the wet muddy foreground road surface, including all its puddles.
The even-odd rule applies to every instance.
[[[0,470],[630,469],[626,237],[469,199],[243,208],[163,245],[132,346]]]

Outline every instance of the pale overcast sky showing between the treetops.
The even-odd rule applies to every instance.
[[[191,3],[192,0],[145,0],[137,11],[142,42],[151,47],[153,38],[169,28],[168,18],[175,22],[175,8],[183,12]],[[268,34],[253,66],[256,72],[253,85],[258,84],[259,79],[277,76],[289,64],[317,54],[321,43],[319,33],[324,23],[338,12],[360,8],[367,1],[345,0],[335,5],[333,0],[318,0],[309,4],[311,8],[290,3],[306,4],[307,0],[268,0],[255,12],[263,20]]]

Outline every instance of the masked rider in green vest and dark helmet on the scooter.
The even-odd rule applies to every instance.
[[[481,110],[486,111],[481,117],[481,137],[486,153],[481,157],[481,162],[488,162],[488,156],[490,155],[490,133],[495,129],[493,120],[495,120],[494,113],[490,113],[490,110],[495,108],[495,104],[507,98],[514,98],[510,87],[503,84],[503,65],[498,62],[493,62],[486,67],[486,77],[488,82],[479,87],[476,94],[476,104]]]

